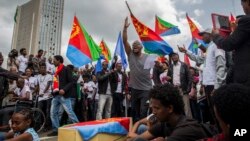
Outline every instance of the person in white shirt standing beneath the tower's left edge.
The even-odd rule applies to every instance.
[[[20,49],[20,56],[18,56],[17,60],[18,60],[18,64],[19,64],[19,68],[18,71],[20,74],[23,74],[25,72],[25,69],[28,66],[28,58],[26,57],[27,55],[27,51],[25,48]]]

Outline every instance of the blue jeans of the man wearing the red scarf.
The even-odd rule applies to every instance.
[[[72,109],[70,98],[65,98],[65,97],[63,97],[61,95],[56,95],[52,99],[51,110],[50,110],[50,118],[51,118],[51,122],[52,122],[52,128],[53,128],[53,131],[55,131],[55,132],[57,132],[57,129],[60,126],[59,112],[60,112],[60,107],[61,106],[66,111],[66,113],[68,114],[69,119],[73,123],[79,122],[77,117],[76,117],[76,114],[74,113],[74,111]]]

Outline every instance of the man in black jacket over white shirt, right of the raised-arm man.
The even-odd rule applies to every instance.
[[[192,117],[190,104],[189,104],[189,92],[192,86],[192,76],[189,72],[188,66],[180,62],[179,55],[177,53],[171,54],[173,64],[170,66],[168,76],[171,77],[170,83],[178,87],[183,94],[183,101],[185,104],[185,114],[187,117]]]

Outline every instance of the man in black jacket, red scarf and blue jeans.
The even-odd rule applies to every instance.
[[[60,106],[68,114],[73,123],[79,122],[71,106],[70,94],[73,88],[72,70],[63,65],[63,57],[54,56],[54,65],[57,67],[53,78],[53,99],[51,102],[50,118],[52,121],[53,132],[48,136],[58,134],[57,129],[60,126],[58,112]]]

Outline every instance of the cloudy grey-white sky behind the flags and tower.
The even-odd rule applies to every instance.
[[[6,56],[11,49],[16,7],[28,1],[30,0],[0,0],[0,51]],[[151,29],[154,29],[155,15],[180,28],[181,34],[164,37],[174,51],[177,51],[177,45],[187,47],[191,42],[186,12],[200,30],[212,27],[211,13],[243,14],[240,0],[127,0],[127,2],[135,17]],[[66,56],[75,14],[97,44],[104,39],[111,52],[114,52],[118,33],[123,29],[125,17],[129,16],[124,0],[65,0],[64,3],[61,55]],[[139,39],[133,24],[128,29],[128,39],[130,43]]]

